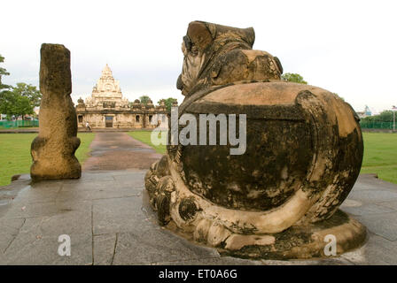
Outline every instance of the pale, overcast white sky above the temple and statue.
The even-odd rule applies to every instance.
[[[74,102],[90,96],[108,64],[123,96],[183,96],[181,43],[189,22],[253,27],[254,50],[278,57],[284,73],[338,93],[355,111],[397,104],[396,1],[20,1],[0,4],[5,84],[38,87],[40,46],[71,51]]]

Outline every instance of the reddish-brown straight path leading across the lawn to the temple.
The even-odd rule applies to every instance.
[[[161,155],[123,132],[95,134],[84,171],[149,169]]]

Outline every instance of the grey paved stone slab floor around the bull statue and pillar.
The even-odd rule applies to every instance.
[[[113,138],[128,143],[125,136]],[[94,157],[110,154],[101,149],[110,140],[102,136],[92,144]],[[154,154],[129,142],[142,157]],[[342,206],[369,229],[362,249],[318,260],[251,261],[222,257],[158,226],[144,193],[146,170],[129,164],[110,171],[102,161],[89,162],[80,180],[31,185],[22,175],[0,187],[0,264],[397,264],[397,186],[373,175],[360,176]],[[70,236],[71,256],[58,255],[62,234]]]

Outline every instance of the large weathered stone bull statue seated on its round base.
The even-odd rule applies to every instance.
[[[365,227],[335,212],[360,172],[359,119],[330,91],[280,80],[278,58],[253,41],[253,28],[189,25],[179,117],[196,117],[199,136],[200,114],[245,114],[246,150],[230,155],[220,136],[216,145],[168,145],[145,176],[160,225],[242,257],[323,256],[326,233],[339,254],[355,249]]]

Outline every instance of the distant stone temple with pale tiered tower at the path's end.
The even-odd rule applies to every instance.
[[[129,103],[121,94],[118,80],[114,80],[113,73],[106,64],[102,76],[92,88],[92,94],[85,102],[80,98],[76,106],[79,127],[86,122],[92,128],[154,128],[166,126],[167,110],[164,102],[159,106],[152,101],[144,104],[138,99]]]

